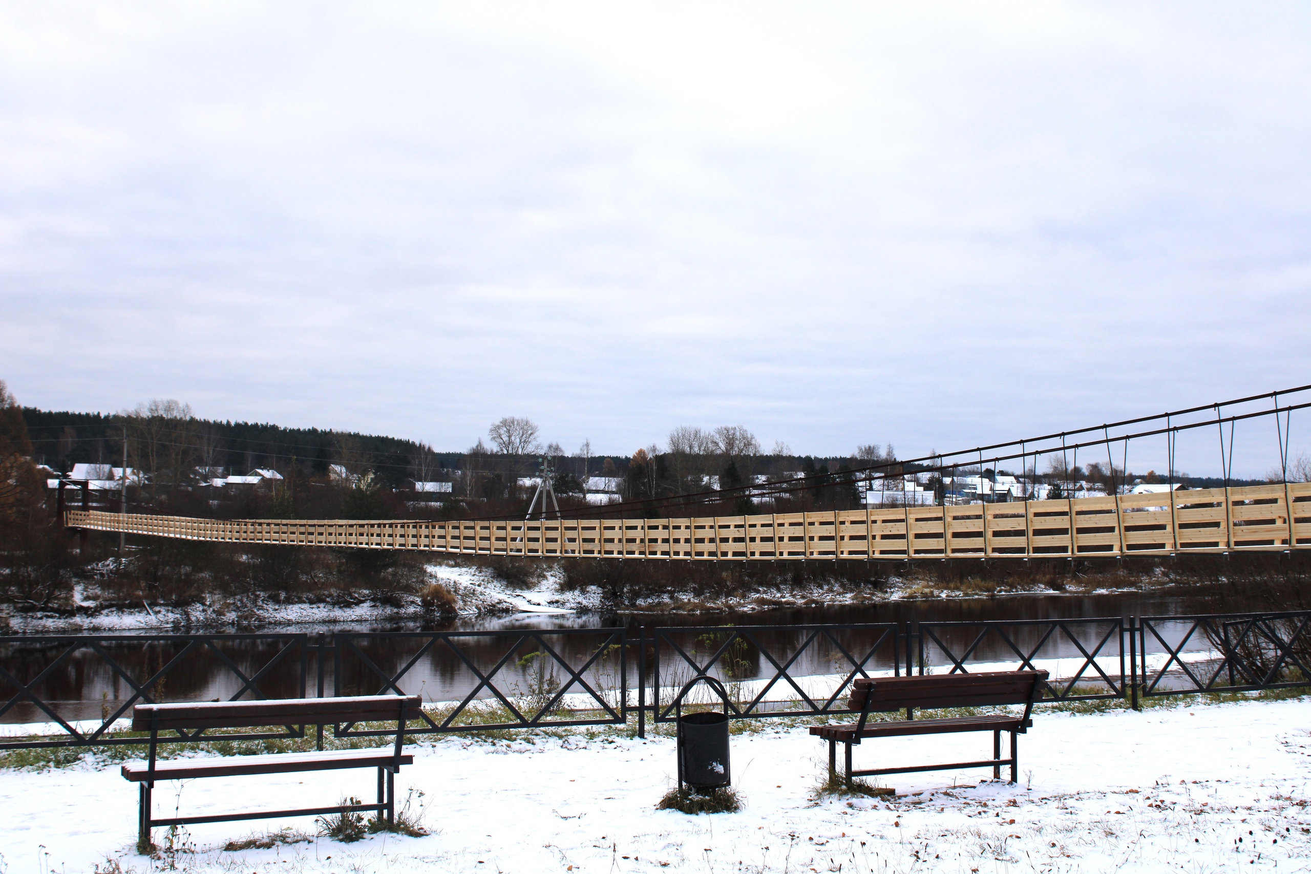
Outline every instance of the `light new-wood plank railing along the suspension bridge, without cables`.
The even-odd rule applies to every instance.
[[[539,558],[1113,557],[1311,549],[1311,484],[694,519],[351,522],[73,510],[66,524],[182,540]]]

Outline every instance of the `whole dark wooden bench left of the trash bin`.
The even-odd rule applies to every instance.
[[[151,732],[149,757],[147,761],[128,761],[123,764],[123,778],[140,784],[140,812],[138,818],[140,845],[149,845],[151,828],[155,826],[189,826],[193,823],[222,823],[240,819],[266,819],[270,816],[309,816],[363,810],[374,810],[380,815],[385,812],[388,822],[393,822],[396,818],[396,772],[401,765],[413,764],[414,761],[413,756],[401,755],[405,721],[410,712],[418,710],[418,696],[399,694],[361,696],[353,698],[277,698],[271,701],[136,705],[132,708],[132,730]],[[292,736],[304,736],[304,726],[307,725],[350,725],[358,722],[395,722],[396,743],[374,750],[290,752],[267,756],[228,756],[223,759],[174,759],[166,761],[156,759],[160,743],[233,738],[233,735],[222,734],[202,738],[202,732],[210,729],[284,726],[292,732]],[[300,726],[299,734],[295,726]],[[173,731],[177,732],[177,736],[160,738],[161,731]],[[240,738],[240,735],[236,736]],[[337,805],[334,807],[304,807],[298,810],[220,814],[212,816],[174,816],[170,819],[153,819],[151,815],[151,790],[155,788],[156,780],[281,774],[302,770],[337,770],[342,768],[378,768],[376,805]]]

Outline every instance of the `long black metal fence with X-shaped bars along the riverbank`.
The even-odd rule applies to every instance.
[[[1306,687],[1308,667],[1311,611],[636,634],[10,636],[0,637],[0,750],[144,743],[118,729],[134,705],[164,701],[406,693],[426,702],[409,734],[627,725],[636,715],[645,736],[646,721],[673,721],[679,692],[700,677],[724,684],[730,718],[755,719],[835,714],[856,677],[903,672],[1042,668],[1051,675],[1044,702],[1122,698],[1138,708],[1143,696]],[[324,731],[319,726],[320,740]],[[351,725],[332,731],[379,734]],[[300,738],[304,726],[237,736]],[[198,738],[174,738],[184,739]]]

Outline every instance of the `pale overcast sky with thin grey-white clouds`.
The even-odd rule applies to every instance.
[[[1299,385],[1308,106],[1294,3],[9,4],[0,377],[903,457]]]

